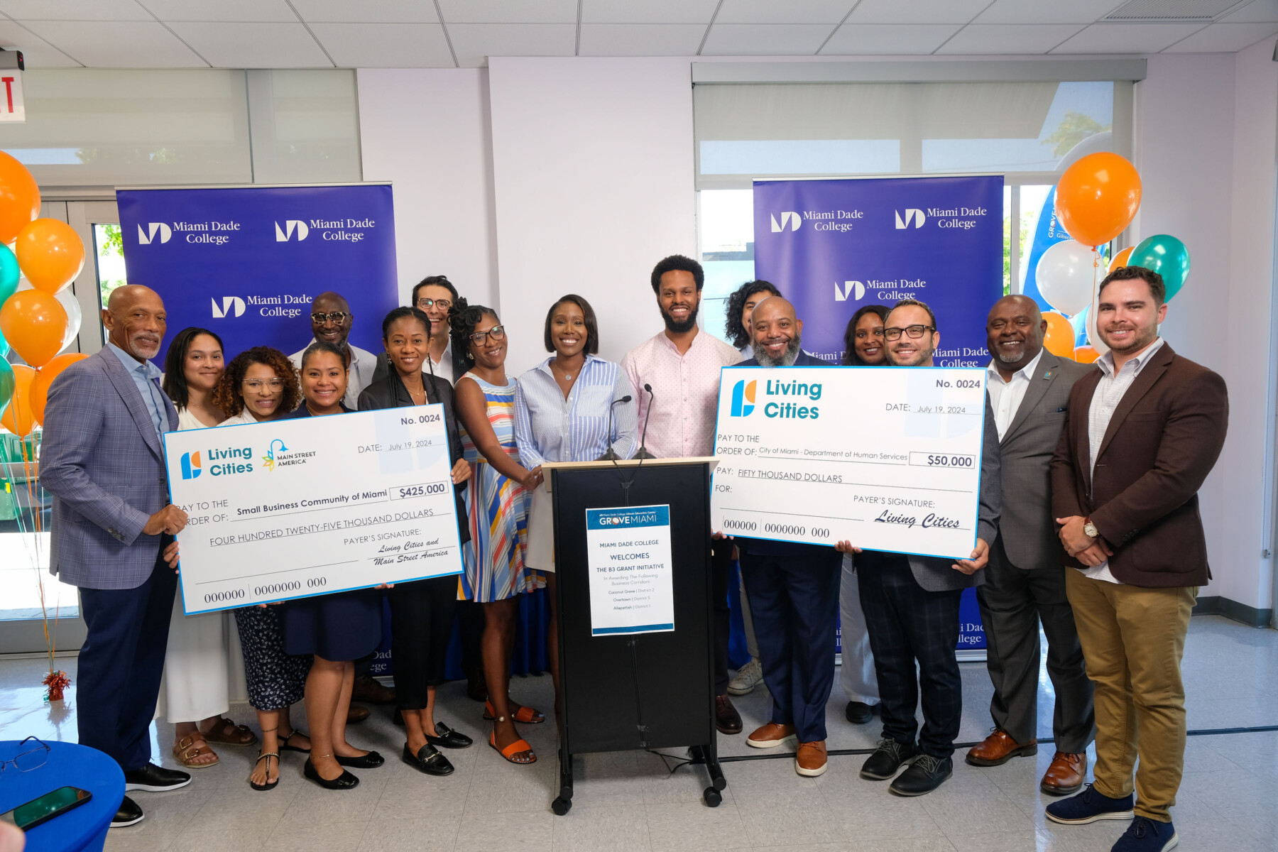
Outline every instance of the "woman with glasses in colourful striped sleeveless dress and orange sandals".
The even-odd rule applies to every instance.
[[[510,700],[510,660],[515,646],[516,595],[546,585],[524,562],[528,547],[528,492],[538,476],[519,464],[515,446],[515,382],[506,376],[506,330],[496,312],[458,299],[449,314],[452,349],[465,353],[470,369],[458,379],[461,446],[474,468],[469,489],[470,542],[461,597],[484,609],[483,669],[488,682],[484,719],[488,737],[512,764],[537,760],[515,722],[537,724],[546,717]]]

